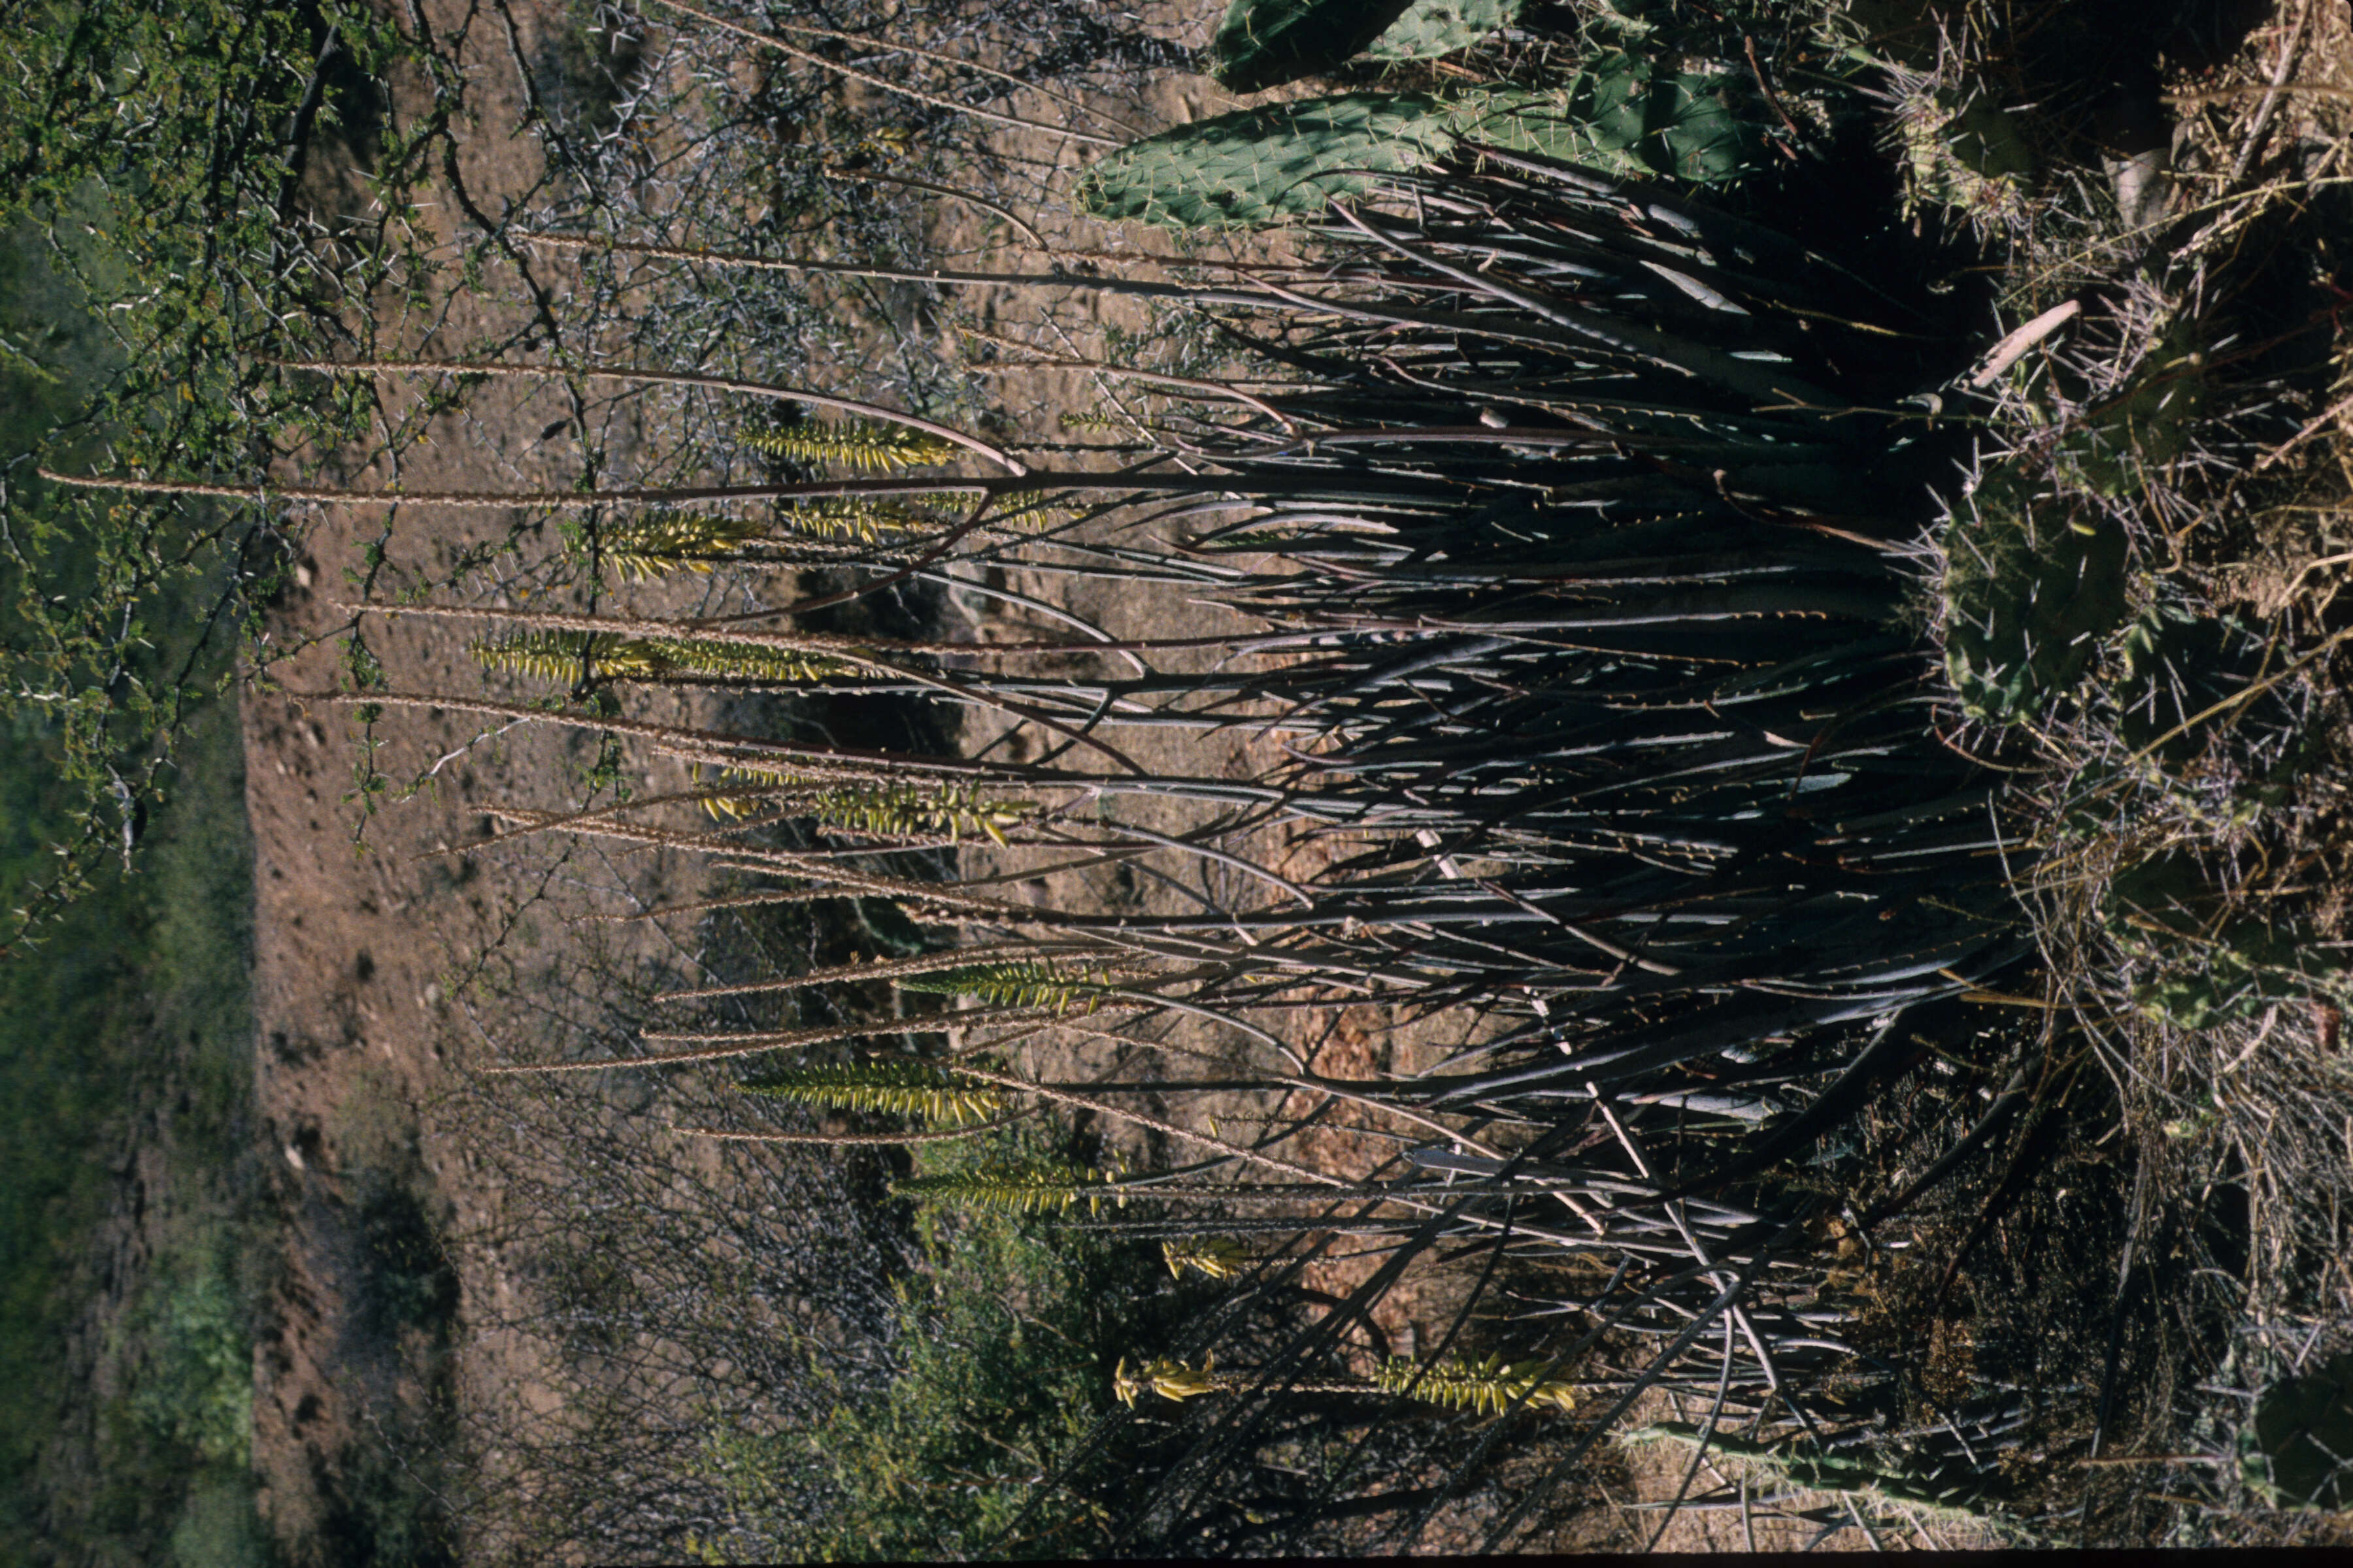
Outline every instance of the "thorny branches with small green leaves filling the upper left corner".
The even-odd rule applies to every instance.
[[[0,451],[0,689],[45,715],[73,809],[66,853],[0,940],[89,893],[160,797],[202,691],[191,661],[235,637],[278,534],[259,508],[94,496],[35,468],[75,473],[104,449],[113,468],[252,484],[365,428],[365,388],[273,360],[315,357],[367,322],[407,254],[402,190],[442,120],[388,132],[374,82],[412,54],[388,14],[339,0],[9,14],[0,367],[9,390],[42,390],[16,404]],[[374,158],[365,221],[306,197],[334,136]]]

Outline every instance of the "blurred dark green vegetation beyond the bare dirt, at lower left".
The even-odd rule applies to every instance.
[[[28,886],[56,856],[73,795],[47,766],[38,715],[0,755],[0,879]],[[240,733],[193,710],[172,809],[136,875],[101,867],[49,940],[0,959],[0,1559],[31,1542],[108,1561],[259,1561],[247,1472],[252,1331],[233,1265],[233,1171],[249,1140],[252,851]],[[169,1074],[169,1077],[167,1077]],[[111,1164],[169,1081],[165,1180],[174,1260],[129,1300],[104,1347],[120,1396],[59,1356],[89,1300],[92,1232]],[[80,1434],[80,1436],[75,1436]],[[92,1483],[96,1472],[104,1483]],[[82,1479],[75,1479],[82,1476]],[[73,1493],[47,1488],[66,1481]]]

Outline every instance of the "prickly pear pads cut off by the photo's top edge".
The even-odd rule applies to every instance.
[[[1209,71],[1231,92],[1264,92],[1334,71],[1355,54],[1435,59],[1506,26],[1522,2],[1233,0],[1209,40]]]

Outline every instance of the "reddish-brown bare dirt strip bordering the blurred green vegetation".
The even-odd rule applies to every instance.
[[[459,7],[426,7],[449,28]],[[560,24],[560,7],[520,14]],[[442,14],[449,12],[449,14]],[[534,40],[525,38],[529,47]],[[464,66],[485,127],[522,118],[508,59],[485,49]],[[515,134],[466,136],[464,181],[487,200],[527,188],[536,148]],[[501,327],[496,296],[459,296],[435,346],[464,353]],[[395,327],[398,331],[398,327]],[[386,388],[393,409],[409,395]],[[529,386],[494,386],[464,414],[447,414],[400,473],[386,465],[339,475],[355,487],[442,489],[560,487],[562,442],[539,442],[553,414]],[[518,799],[544,769],[565,762],[551,733],[518,733],[499,748],[452,757],[435,788],[395,802],[362,825],[355,764],[362,726],[332,693],[334,637],[351,625],[346,599],[386,583],[447,574],[456,550],[494,541],[496,512],[393,512],[325,508],[301,517],[294,585],[273,607],[268,686],[245,701],[247,811],[256,877],[256,1100],[287,1218],[273,1324],[254,1359],[254,1467],[261,1514],[294,1561],[336,1561],[376,1528],[358,1472],[381,1467],[384,1429],[416,1413],[435,1349],[421,1331],[369,1300],[386,1265],[433,1276],[431,1258],[386,1258],[386,1206],[402,1194],[438,1229],[478,1208],[468,1154],[421,1135],[416,1107],[461,1048],[456,992],[468,966],[504,943],[527,940],[508,922],[515,889],[464,853],[489,832],[487,799]],[[369,574],[369,552],[381,571]],[[372,581],[374,578],[374,581]],[[400,689],[478,691],[461,639],[384,637]],[[398,715],[386,771],[409,778],[475,736],[456,715]],[[504,870],[504,867],[501,867]],[[414,1251],[414,1248],[412,1248]],[[466,1276],[459,1300],[499,1295],[506,1281]],[[464,1312],[464,1307],[459,1309]]]

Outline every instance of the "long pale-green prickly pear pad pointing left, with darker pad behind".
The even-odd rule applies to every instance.
[[[1235,228],[1306,219],[1381,174],[1445,158],[1459,143],[1577,162],[1621,179],[1734,179],[1758,132],[1727,89],[1647,61],[1602,54],[1555,89],[1341,94],[1245,108],[1129,143],[1078,183],[1104,219]]]

